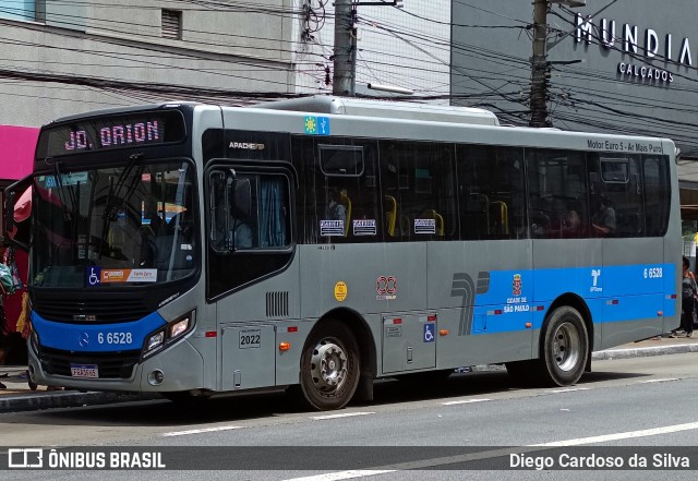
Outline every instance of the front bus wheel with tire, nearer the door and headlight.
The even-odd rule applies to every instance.
[[[310,335],[301,356],[300,384],[308,404],[326,411],[349,402],[359,384],[359,345],[342,323],[321,323]]]

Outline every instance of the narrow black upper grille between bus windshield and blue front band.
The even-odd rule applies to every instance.
[[[67,323],[137,321],[152,312],[137,299],[37,299],[34,310],[46,320]]]

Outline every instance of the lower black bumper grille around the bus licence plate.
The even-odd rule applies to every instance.
[[[141,351],[81,352],[41,348],[41,368],[48,374],[70,377],[70,364],[96,364],[100,380],[127,380],[133,374]]]

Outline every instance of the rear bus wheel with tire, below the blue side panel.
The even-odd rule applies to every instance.
[[[541,381],[556,386],[579,381],[589,356],[589,335],[581,314],[568,305],[555,309],[544,323],[541,341]]]

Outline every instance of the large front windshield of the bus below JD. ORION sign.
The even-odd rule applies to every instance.
[[[34,179],[35,287],[113,288],[180,279],[198,263],[193,167],[183,160]]]

